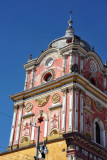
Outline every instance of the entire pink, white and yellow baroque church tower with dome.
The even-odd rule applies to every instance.
[[[74,34],[52,41],[24,64],[24,91],[13,94],[9,147],[2,159],[107,160],[107,64],[94,47]],[[44,152],[44,150],[42,150]]]

